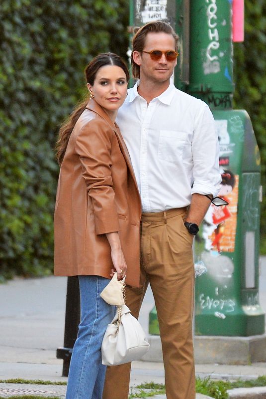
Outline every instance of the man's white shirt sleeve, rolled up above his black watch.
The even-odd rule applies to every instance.
[[[195,121],[192,141],[193,186],[191,194],[212,194],[220,190],[219,142],[213,115],[207,105]]]

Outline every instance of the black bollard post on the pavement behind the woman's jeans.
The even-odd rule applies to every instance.
[[[63,377],[68,377],[70,359],[78,335],[80,318],[81,305],[79,277],[68,277],[64,348],[58,348],[56,351],[57,359],[64,360],[62,372]]]

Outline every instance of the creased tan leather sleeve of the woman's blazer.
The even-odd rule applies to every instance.
[[[113,131],[103,120],[92,119],[76,138],[75,150],[92,201],[96,234],[119,231],[112,182]]]

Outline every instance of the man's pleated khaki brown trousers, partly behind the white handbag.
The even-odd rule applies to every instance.
[[[139,288],[126,288],[126,304],[138,318],[150,283],[157,309],[167,399],[195,399],[192,316],[193,236],[183,224],[187,208],[144,213]],[[131,363],[107,367],[102,399],[128,399]]]

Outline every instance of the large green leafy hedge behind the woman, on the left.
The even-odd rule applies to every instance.
[[[119,0],[0,2],[0,274],[53,268],[58,127],[85,92],[84,68],[125,54]]]

